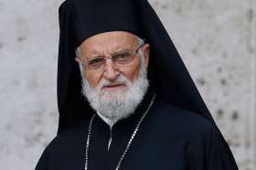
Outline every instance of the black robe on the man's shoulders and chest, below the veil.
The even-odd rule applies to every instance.
[[[152,99],[147,93],[135,113],[113,125],[101,117],[92,123],[89,170],[113,170],[135,126]],[[82,170],[90,119],[61,134],[46,148],[36,170]],[[112,131],[112,144],[108,151]],[[205,118],[169,105],[159,96],[145,116],[121,169],[234,170],[232,157],[216,127]]]

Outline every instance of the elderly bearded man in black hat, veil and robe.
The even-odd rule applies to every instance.
[[[36,170],[238,169],[146,0],[66,0],[59,26],[59,133]]]

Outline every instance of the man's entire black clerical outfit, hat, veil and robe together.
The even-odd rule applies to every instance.
[[[96,115],[88,169],[115,169],[154,91],[154,105],[121,169],[238,170],[175,45],[146,0],[65,0],[59,7],[59,31],[59,132],[37,170],[84,169],[88,126],[95,112],[80,94],[75,49],[86,38],[109,31],[127,31],[150,44],[147,76],[151,90],[135,113],[112,130]]]

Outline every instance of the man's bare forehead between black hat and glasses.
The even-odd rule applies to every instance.
[[[129,32],[112,31],[93,35],[84,40],[80,45],[83,53],[107,52],[114,50],[131,48],[136,45],[136,36]]]

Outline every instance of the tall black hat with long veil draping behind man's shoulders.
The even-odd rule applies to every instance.
[[[146,0],[66,0],[59,7],[59,29],[58,133],[91,115],[90,105],[80,94],[75,49],[86,38],[110,31],[127,31],[144,38],[151,45],[148,78],[157,94],[204,117],[218,129],[165,27]]]

